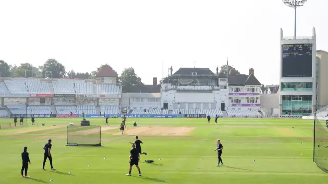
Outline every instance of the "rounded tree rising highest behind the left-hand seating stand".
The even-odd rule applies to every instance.
[[[64,78],[66,75],[65,67],[55,59],[48,59],[43,66],[39,66],[44,78]]]

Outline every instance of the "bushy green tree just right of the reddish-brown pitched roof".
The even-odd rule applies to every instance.
[[[121,76],[119,76],[119,81],[122,83],[122,89],[144,85],[144,83],[141,82],[141,78],[135,74],[132,67],[124,69]]]

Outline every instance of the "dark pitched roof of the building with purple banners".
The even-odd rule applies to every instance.
[[[254,75],[235,75],[235,76],[228,76],[229,85],[261,85],[261,83],[256,79]]]

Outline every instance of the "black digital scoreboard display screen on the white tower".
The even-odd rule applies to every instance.
[[[282,77],[312,77],[312,44],[282,45]]]

